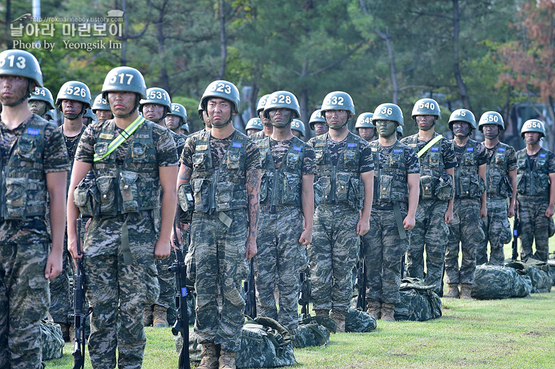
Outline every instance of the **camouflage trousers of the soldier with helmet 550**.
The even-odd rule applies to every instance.
[[[490,259],[492,265],[505,265],[503,252],[504,243],[511,241],[511,225],[507,218],[509,203],[502,196],[489,196],[486,201],[488,216],[482,218],[481,229],[486,239],[480,242],[476,250],[476,265],[488,262],[488,241],[490,243]]]

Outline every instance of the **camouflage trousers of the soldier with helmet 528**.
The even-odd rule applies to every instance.
[[[289,329],[298,325],[299,277],[307,267],[306,246],[299,243],[301,233],[302,213],[298,207],[260,212],[254,263],[257,314],[278,320]],[[279,314],[275,286],[280,296]]]

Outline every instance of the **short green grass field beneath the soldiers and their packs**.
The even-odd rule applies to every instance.
[[[510,252],[507,245],[505,255]],[[509,300],[442,300],[441,318],[378,320],[374,332],[334,334],[327,347],[295,350],[297,367],[555,368],[555,289]],[[149,327],[146,337],[144,368],[178,368],[171,329]],[[68,343],[64,357],[47,367],[73,368],[71,350]]]

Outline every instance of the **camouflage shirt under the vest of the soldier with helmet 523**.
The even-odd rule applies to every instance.
[[[212,154],[212,166],[218,168],[220,166],[223,155],[225,151],[235,137],[236,131],[234,131],[229,137],[225,139],[216,139],[210,135],[210,153]],[[193,169],[193,155],[196,149],[196,141],[198,135],[190,135],[187,137],[185,142],[185,147],[183,147],[183,152],[181,154],[181,163],[190,169]],[[246,141],[246,171],[254,171],[261,168],[260,164],[260,152],[258,146],[252,139],[247,139]]]

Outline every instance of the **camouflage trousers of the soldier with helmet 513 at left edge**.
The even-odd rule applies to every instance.
[[[47,243],[0,246],[0,368],[42,368],[40,320],[50,304]]]

